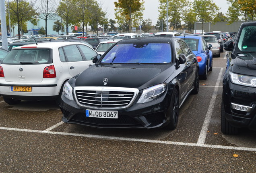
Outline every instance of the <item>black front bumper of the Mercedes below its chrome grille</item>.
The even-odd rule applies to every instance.
[[[62,121],[64,123],[72,123],[85,125],[87,127],[96,128],[144,128],[151,129],[157,127],[164,127],[169,123],[169,113],[168,108],[170,105],[169,92],[165,92],[165,95],[144,104],[136,104],[138,97],[135,99],[134,103],[126,108],[118,111],[118,119],[103,119],[86,117],[85,110],[86,107],[79,106],[76,101],[70,101],[62,95],[62,101],[60,104],[60,109],[62,111],[63,117]],[[97,110],[97,109],[95,109]]]

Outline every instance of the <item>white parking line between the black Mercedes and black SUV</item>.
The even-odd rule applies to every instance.
[[[198,141],[197,141],[198,145],[203,145],[204,144],[204,141],[205,141],[205,138],[206,138],[206,135],[207,135],[207,131],[208,131],[208,127],[209,127],[209,124],[210,124],[210,121],[211,121],[211,116],[212,116],[212,113],[213,113],[213,108],[214,108],[214,105],[215,105],[217,92],[218,92],[218,89],[219,89],[218,86],[219,86],[219,83],[221,82],[221,79],[222,79],[223,70],[224,70],[224,68],[221,68],[221,70],[219,72],[219,76],[218,76],[217,82],[215,84],[216,87],[214,88],[213,96],[211,98],[211,102],[210,102],[208,111],[206,113],[206,117],[204,119],[204,124],[202,126],[200,136],[199,136]]]

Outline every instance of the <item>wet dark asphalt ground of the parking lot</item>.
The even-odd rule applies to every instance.
[[[177,129],[93,129],[64,124],[54,101],[0,96],[1,173],[256,172],[256,131],[220,129],[225,52],[180,108]]]

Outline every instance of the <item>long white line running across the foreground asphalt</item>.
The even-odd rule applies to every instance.
[[[87,134],[81,134],[81,133],[65,133],[65,132],[55,132],[55,131],[39,131],[39,130],[30,130],[30,129],[8,128],[8,127],[0,127],[0,129],[1,130],[9,130],[9,131],[23,131],[23,132],[44,133],[44,134],[52,134],[52,135],[68,135],[68,136],[88,137],[88,138],[107,139],[107,140],[135,141],[135,142],[159,143],[159,144],[168,144],[168,145],[183,145],[183,146],[192,146],[192,147],[206,147],[206,148],[215,148],[215,149],[231,149],[231,150],[240,150],[240,151],[256,151],[256,148],[247,148],[247,147],[232,147],[232,146],[223,146],[223,145],[207,145],[207,144],[197,144],[197,143],[159,141],[159,140],[150,140],[150,139],[137,139],[137,138],[126,138],[126,137],[111,137],[111,136],[101,136],[101,135],[87,135]]]

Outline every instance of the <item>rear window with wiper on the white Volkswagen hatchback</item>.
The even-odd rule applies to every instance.
[[[50,49],[16,49],[10,51],[2,64],[48,64],[52,63]]]

